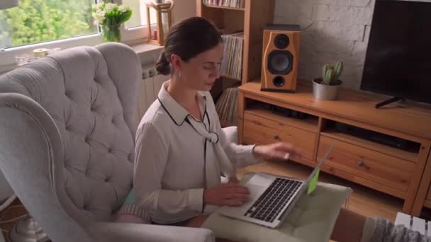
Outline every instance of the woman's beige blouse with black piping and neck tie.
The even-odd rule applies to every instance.
[[[259,163],[253,145],[226,140],[211,94],[198,93],[203,120],[195,120],[162,85],[158,99],[136,134],[134,185],[136,203],[153,221],[170,224],[209,212],[203,188],[220,184],[220,174]],[[205,211],[203,211],[205,210]]]

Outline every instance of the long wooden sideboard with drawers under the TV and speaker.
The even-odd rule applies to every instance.
[[[339,100],[315,100],[305,81],[296,93],[260,91],[259,81],[239,90],[240,143],[291,142],[305,151],[294,161],[313,167],[337,142],[323,171],[405,200],[408,214],[418,216],[424,205],[431,206],[431,106],[403,102],[376,109],[384,97],[350,90],[342,90]],[[306,117],[291,117],[286,110]],[[399,149],[340,132],[339,124],[397,137],[410,146]]]

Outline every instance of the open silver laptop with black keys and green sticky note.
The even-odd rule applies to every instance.
[[[277,229],[304,192],[313,192],[320,167],[335,146],[326,151],[307,180],[296,180],[267,173],[255,173],[244,185],[250,190],[250,200],[241,206],[223,206],[218,212],[233,219],[248,221]]]

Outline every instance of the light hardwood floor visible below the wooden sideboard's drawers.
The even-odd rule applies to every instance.
[[[249,166],[238,171],[238,176],[247,172],[266,172],[276,175],[286,175],[295,178],[306,178],[313,169],[293,161],[264,161],[258,165]],[[381,217],[395,221],[398,211],[403,209],[403,200],[382,192],[371,190],[348,180],[337,178],[328,173],[320,173],[319,181],[344,185],[353,189],[349,201],[349,209],[367,217]]]

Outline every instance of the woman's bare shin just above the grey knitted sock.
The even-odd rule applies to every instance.
[[[347,209],[341,209],[335,222],[331,239],[337,242],[360,242],[366,217]]]

